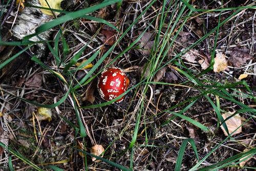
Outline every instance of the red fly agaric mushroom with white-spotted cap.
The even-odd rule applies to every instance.
[[[130,80],[125,76],[124,72],[119,68],[105,69],[98,81],[98,91],[106,101],[111,101],[117,96],[124,93],[130,84]],[[120,102],[123,97],[117,100]]]

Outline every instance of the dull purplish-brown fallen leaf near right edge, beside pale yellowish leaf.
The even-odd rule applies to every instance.
[[[242,67],[244,63],[251,59],[252,56],[249,55],[250,50],[249,49],[242,49],[240,47],[236,47],[232,50],[231,56],[228,58],[228,61],[230,63],[233,63],[234,67]]]

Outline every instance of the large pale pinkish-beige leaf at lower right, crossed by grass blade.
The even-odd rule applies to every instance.
[[[225,120],[226,118],[228,118],[230,115],[234,114],[235,112],[236,111],[228,112],[228,114],[224,113],[221,116]],[[241,116],[239,114],[236,114],[233,117],[229,118],[226,121],[226,125],[227,125],[227,129],[228,129],[229,134],[234,132],[234,130],[236,130],[241,124],[242,124],[242,120],[241,120]],[[223,125],[221,125],[221,129],[223,130],[225,136],[228,136],[227,132],[225,131],[225,129],[223,127]],[[242,126],[239,127],[239,129],[236,132],[234,132],[232,135],[239,134],[239,133],[242,133]]]

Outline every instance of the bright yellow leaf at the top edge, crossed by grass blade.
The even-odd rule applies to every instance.
[[[60,3],[63,0],[39,0],[42,7],[49,8],[46,1],[48,2],[51,9],[61,10]],[[46,15],[54,16],[51,10],[40,9],[40,11]],[[59,15],[59,12],[54,12],[54,14],[57,16]]]

